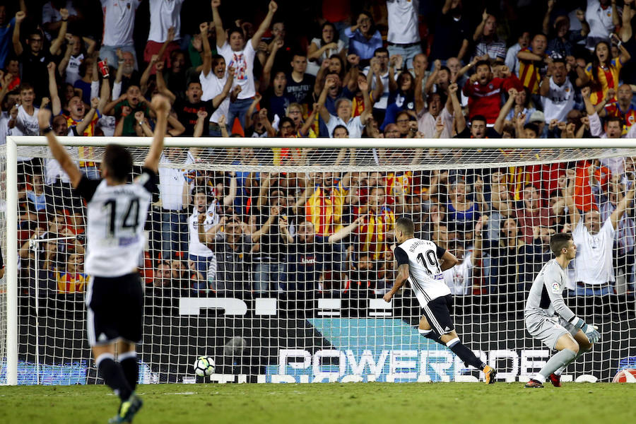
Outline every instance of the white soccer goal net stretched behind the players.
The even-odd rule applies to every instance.
[[[62,140],[98,178],[107,140]],[[149,140],[108,141],[130,146],[139,173]],[[527,333],[524,303],[555,232],[572,232],[578,247],[565,302],[602,335],[564,380],[607,382],[633,367],[636,148],[453,142],[167,141],[139,259],[140,382],[202,381],[200,355],[216,363],[213,382],[483,378],[418,334],[408,284],[382,299],[396,278],[401,216],[459,259],[443,272],[455,328],[500,379],[523,381],[551,354]],[[100,383],[83,303],[86,204],[44,138],[6,149],[0,384]]]

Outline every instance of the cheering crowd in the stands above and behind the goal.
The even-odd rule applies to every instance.
[[[170,99],[167,135],[179,137],[636,135],[635,0],[229,3],[0,2],[0,143],[38,135],[44,107],[58,136],[151,136],[155,93]],[[453,293],[522,295],[551,257],[550,235],[571,231],[579,257],[568,293],[633,295],[632,158],[256,170],[360,158],[387,167],[398,156],[416,164],[441,154],[390,147],[167,148],[141,267],[148,287],[381,296],[394,281],[392,225],[406,215],[418,237],[460,259],[444,272]],[[92,149],[76,153],[99,178]],[[203,158],[237,170],[188,169]],[[54,160],[20,158],[18,169],[23,289],[37,272],[45,290],[83,292],[84,205]],[[29,241],[50,235],[69,238],[39,243],[35,264]]]

